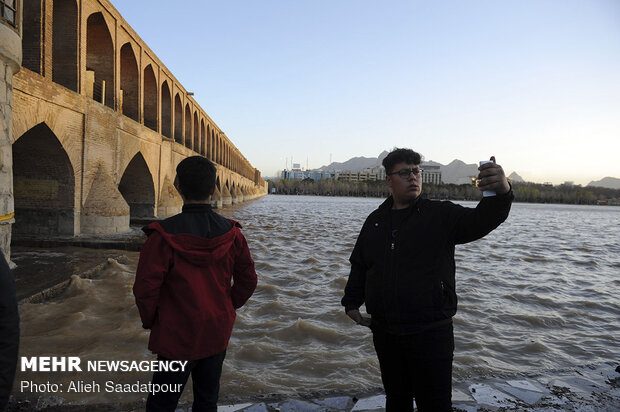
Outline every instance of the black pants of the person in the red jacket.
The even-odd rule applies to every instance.
[[[192,388],[194,390],[192,411],[217,411],[220,376],[222,375],[222,364],[225,357],[226,351],[224,350],[224,352],[208,358],[189,361],[183,371],[153,373],[153,384],[180,384],[182,389],[179,392],[157,392],[155,395],[149,393],[146,400],[146,412],[174,412],[190,373],[192,374]],[[169,360],[163,356],[158,356],[157,359]]]

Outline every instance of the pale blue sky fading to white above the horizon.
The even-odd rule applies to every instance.
[[[620,1],[111,1],[263,177],[409,147],[620,178]]]

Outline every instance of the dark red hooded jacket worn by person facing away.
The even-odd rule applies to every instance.
[[[195,360],[224,351],[235,309],[250,298],[257,276],[237,222],[217,237],[167,233],[159,223],[140,252],[133,292],[149,349],[169,359]],[[234,282],[234,283],[233,283]]]

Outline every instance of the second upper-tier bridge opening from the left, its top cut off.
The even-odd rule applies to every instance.
[[[78,91],[78,14],[75,0],[54,0],[52,81]]]

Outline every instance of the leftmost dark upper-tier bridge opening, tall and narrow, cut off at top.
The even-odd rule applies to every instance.
[[[41,2],[25,1],[23,4],[22,66],[43,74],[41,67]]]

